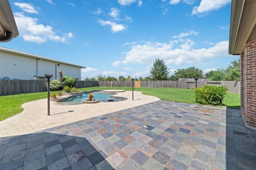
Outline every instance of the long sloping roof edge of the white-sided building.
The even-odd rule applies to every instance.
[[[24,56],[24,57],[31,57],[31,58],[34,58],[34,59],[41,59],[41,60],[52,61],[52,62],[60,63],[60,64],[67,64],[67,65],[70,65],[70,66],[76,66],[76,67],[80,67],[80,68],[86,68],[86,67],[84,67],[84,66],[79,66],[79,65],[75,65],[75,64],[65,63],[65,62],[63,62],[63,61],[58,61],[58,60],[54,60],[54,59],[49,59],[49,58],[42,57],[42,56],[39,56],[39,55],[34,55],[34,54],[30,54],[30,53],[25,53],[25,52],[22,52],[22,51],[18,51],[18,50],[14,50],[14,49],[8,49],[8,48],[5,48],[5,47],[0,47],[0,52],[6,52],[6,53],[11,53],[11,54],[16,54],[16,55],[22,55],[22,56]]]

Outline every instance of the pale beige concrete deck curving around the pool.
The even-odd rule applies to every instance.
[[[114,96],[128,98],[121,102],[99,102],[97,104],[60,105],[57,102],[50,102],[50,116],[48,116],[47,99],[35,100],[22,105],[24,111],[0,121],[0,137],[9,137],[34,133],[75,121],[120,111],[123,109],[140,106],[160,100],[154,96],[142,95],[141,92],[123,90],[105,90],[116,92]]]

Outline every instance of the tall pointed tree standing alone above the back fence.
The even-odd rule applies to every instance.
[[[150,70],[150,77],[153,80],[167,80],[168,74],[170,73],[164,60],[156,59]]]

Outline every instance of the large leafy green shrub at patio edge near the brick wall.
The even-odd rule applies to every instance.
[[[228,86],[204,85],[204,87],[196,88],[196,99],[201,104],[220,105],[222,100],[228,93]]]

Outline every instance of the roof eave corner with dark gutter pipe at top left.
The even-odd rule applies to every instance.
[[[0,0],[0,42],[11,41],[19,35],[8,0]]]

